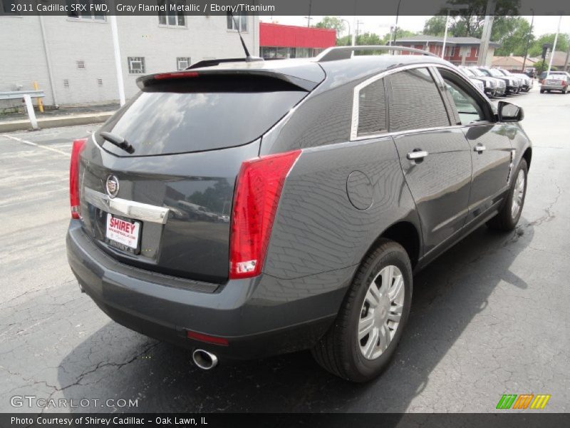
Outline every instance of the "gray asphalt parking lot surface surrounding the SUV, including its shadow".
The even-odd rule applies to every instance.
[[[494,412],[502,394],[527,393],[568,412],[570,96],[535,86],[509,99],[534,143],[519,227],[482,227],[415,277],[395,359],[363,385],[309,352],[202,372],[187,350],[115,324],[65,250],[71,141],[96,126],[0,134],[0,412]]]

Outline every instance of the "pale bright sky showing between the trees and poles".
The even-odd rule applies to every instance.
[[[321,21],[323,16],[311,16],[311,18],[311,24],[314,25]],[[354,16],[340,16],[340,18],[346,19],[350,22],[350,26],[353,27]],[[531,21],[531,16],[524,16],[524,18],[529,22]],[[271,16],[260,16],[260,19],[263,22],[271,22]],[[395,24],[395,16],[357,16],[357,19],[361,22],[361,24],[358,24],[359,31],[368,31],[380,36],[389,33],[390,26]],[[423,24],[427,19],[430,19],[430,16],[400,16],[398,18],[398,27],[410,31],[422,31]],[[534,35],[541,36],[542,34],[556,32],[558,21],[559,16],[534,16]],[[303,16],[273,16],[273,22],[298,26],[307,25],[307,19]],[[353,29],[351,28],[351,30]],[[570,16],[562,16],[560,32],[570,34]],[[345,23],[343,35],[346,34],[348,34],[348,26]]]

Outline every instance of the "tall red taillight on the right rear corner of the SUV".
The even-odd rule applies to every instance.
[[[230,279],[261,273],[285,178],[301,151],[242,163],[237,176],[229,238]]]

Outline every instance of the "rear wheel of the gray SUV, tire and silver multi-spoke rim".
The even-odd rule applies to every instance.
[[[390,272],[395,275],[392,277]],[[383,278],[390,280],[383,283]],[[400,282],[400,278],[403,282]],[[373,282],[375,286],[379,284],[375,289],[377,294],[372,291],[369,294]],[[381,239],[375,250],[358,267],[333,325],[313,348],[312,354],[316,362],[328,372],[351,382],[368,382],[377,377],[388,366],[408,320],[412,282],[412,265],[408,253],[400,244]],[[383,294],[386,291],[383,286],[387,286],[387,290],[392,290],[393,294]],[[394,292],[395,289],[400,291]],[[402,292],[403,296],[400,294]],[[369,302],[375,295],[379,296],[375,297],[379,303],[372,307]],[[390,296],[395,297],[394,302]],[[401,306],[401,315],[395,325],[392,318],[397,318],[395,314],[399,312],[396,309],[398,306]],[[366,322],[367,319],[372,319],[372,322]],[[359,339],[359,330],[366,332],[363,327],[366,325],[373,327]],[[388,337],[391,339],[388,340]]]

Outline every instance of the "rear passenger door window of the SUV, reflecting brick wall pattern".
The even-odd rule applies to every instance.
[[[427,68],[388,76],[390,132],[450,126],[441,94]]]

